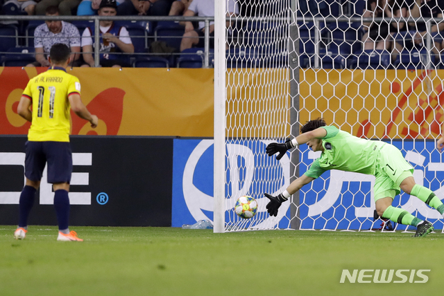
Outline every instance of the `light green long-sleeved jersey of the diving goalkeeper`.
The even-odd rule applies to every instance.
[[[361,139],[336,127],[323,129],[327,131],[322,138],[324,151],[305,172],[306,176],[318,178],[329,169],[375,175],[377,155],[385,142]]]

